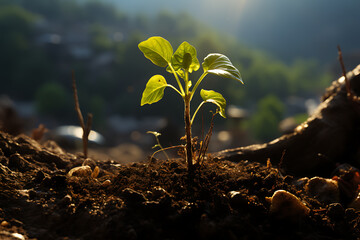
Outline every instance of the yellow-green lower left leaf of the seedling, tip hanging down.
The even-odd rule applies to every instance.
[[[152,76],[146,84],[141,98],[141,106],[158,102],[164,96],[167,87],[165,78],[161,75]]]

